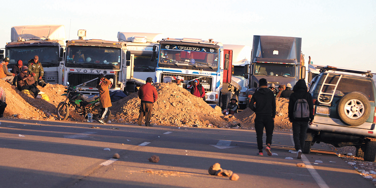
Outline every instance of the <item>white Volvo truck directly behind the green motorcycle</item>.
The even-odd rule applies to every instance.
[[[84,39],[86,30],[79,30],[79,39],[69,40],[65,53],[64,85],[82,86],[85,94],[97,93],[99,74],[114,79],[110,91],[123,90],[131,75],[130,52],[121,42]]]

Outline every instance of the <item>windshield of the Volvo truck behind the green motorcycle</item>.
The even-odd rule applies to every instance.
[[[121,49],[101,46],[67,46],[66,67],[118,70]]]

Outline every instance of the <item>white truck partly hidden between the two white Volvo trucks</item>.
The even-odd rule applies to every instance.
[[[162,33],[130,33],[118,32],[118,41],[123,49],[131,53],[130,67],[133,71],[130,74],[125,91],[132,93],[145,83],[147,77],[155,77],[156,59],[150,62],[153,53],[153,46],[158,45],[158,40],[163,39]]]

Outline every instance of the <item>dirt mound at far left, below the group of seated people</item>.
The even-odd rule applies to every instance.
[[[12,89],[11,85],[3,80],[0,80],[0,86],[6,94],[7,107],[4,116],[8,118],[15,118],[14,115],[21,114],[23,119],[53,120],[52,117],[56,117],[56,108],[59,102],[65,99],[60,96],[64,92],[63,85],[47,84],[44,88],[38,86],[38,89],[49,97],[49,101],[35,99],[30,94],[18,91],[17,88]]]

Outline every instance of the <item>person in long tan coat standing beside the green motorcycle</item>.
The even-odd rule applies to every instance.
[[[108,112],[108,107],[111,107],[110,88],[111,81],[108,80],[103,74],[98,77],[97,88],[99,90],[99,108],[102,108],[102,114],[98,120],[102,124],[106,124],[103,119]]]

